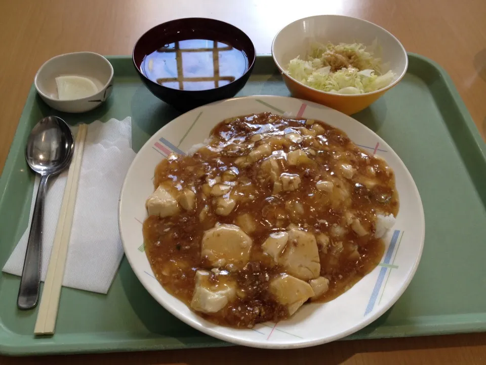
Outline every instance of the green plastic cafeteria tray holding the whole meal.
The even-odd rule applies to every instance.
[[[70,124],[132,117],[135,151],[179,115],[142,85],[127,56],[109,57],[114,90],[83,115],[57,113]],[[385,139],[415,179],[425,209],[425,248],[402,297],[348,339],[486,330],[486,149],[451,79],[436,63],[409,54],[407,75],[354,115]],[[271,57],[259,56],[238,94],[289,95]],[[0,265],[26,228],[34,175],[24,145],[38,119],[54,114],[32,87],[0,178]],[[406,197],[401,197],[406,199]],[[390,269],[391,270],[391,269]],[[0,276],[0,353],[11,355],[139,351],[228,345],[176,319],[121,262],[108,295],[63,288],[56,334],[35,338],[37,310],[19,311],[19,278]],[[323,323],[325,325],[325,323]]]

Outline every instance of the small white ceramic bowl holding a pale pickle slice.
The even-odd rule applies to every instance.
[[[59,100],[56,77],[75,75],[90,79],[98,92],[88,97]],[[84,113],[101,105],[113,88],[113,67],[103,56],[94,52],[66,53],[46,61],[34,77],[34,86],[41,98],[60,112]]]

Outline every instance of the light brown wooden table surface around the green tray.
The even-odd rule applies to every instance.
[[[285,5],[284,5],[285,4]],[[291,5],[293,4],[293,5]],[[181,17],[230,22],[269,53],[274,34],[315,14],[342,14],[388,29],[410,52],[440,63],[451,75],[480,133],[486,135],[486,1],[484,0],[19,0],[0,2],[0,171],[39,66],[67,52],[131,54],[150,27]],[[484,364],[486,334],[339,341],[311,349],[242,347],[69,357],[6,358],[0,363],[345,363]]]

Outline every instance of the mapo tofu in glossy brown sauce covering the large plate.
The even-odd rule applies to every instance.
[[[386,162],[326,123],[219,123],[156,167],[145,251],[157,280],[218,324],[252,327],[344,293],[380,262],[398,196]]]

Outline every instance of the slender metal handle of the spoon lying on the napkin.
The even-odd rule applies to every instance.
[[[29,240],[25,251],[24,268],[20,279],[17,307],[31,309],[37,305],[39,284],[41,283],[42,226],[44,220],[44,199],[49,175],[41,176],[37,197],[35,198]]]

